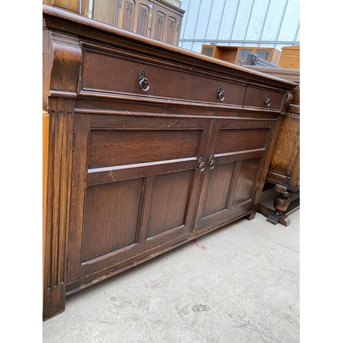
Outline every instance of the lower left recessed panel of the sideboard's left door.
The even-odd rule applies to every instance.
[[[82,262],[135,242],[142,182],[142,178],[137,178],[88,187]]]

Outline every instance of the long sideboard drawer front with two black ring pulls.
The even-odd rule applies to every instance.
[[[162,63],[114,51],[105,53],[84,49],[81,92],[243,106],[246,84],[196,75],[190,70]],[[145,79],[141,87],[139,77],[142,71]]]

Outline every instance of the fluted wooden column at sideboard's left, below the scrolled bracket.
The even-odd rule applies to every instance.
[[[73,149],[73,99],[49,102],[43,319],[64,311]]]

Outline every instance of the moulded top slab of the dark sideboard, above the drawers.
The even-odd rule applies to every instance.
[[[97,44],[104,44],[104,46],[110,45],[121,49],[134,49],[141,56],[158,56],[165,62],[192,67],[195,71],[198,69],[206,70],[209,73],[222,75],[222,77],[248,83],[256,82],[267,86],[276,86],[284,90],[292,90],[296,86],[293,82],[272,75],[248,70],[229,62],[175,47],[49,5],[43,5],[43,28],[63,32],[64,34],[73,34],[80,39],[91,39]]]

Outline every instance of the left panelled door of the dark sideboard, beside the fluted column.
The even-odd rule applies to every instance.
[[[210,124],[75,115],[67,289],[191,231]]]

